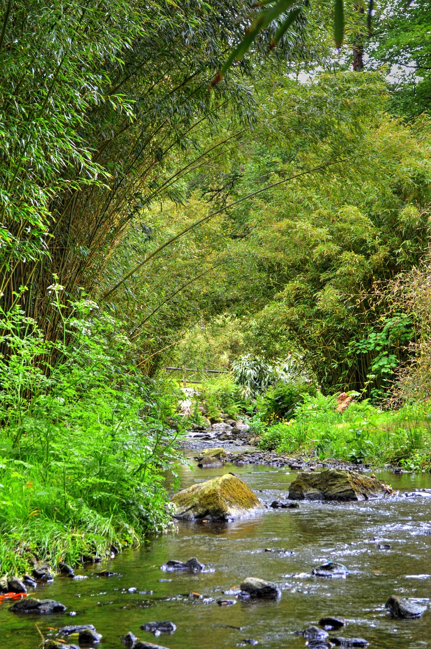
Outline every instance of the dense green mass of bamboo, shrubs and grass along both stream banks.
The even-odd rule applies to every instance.
[[[0,573],[168,524],[202,404],[430,465],[428,6],[346,5],[339,51],[288,6],[226,67],[246,3],[1,3]]]

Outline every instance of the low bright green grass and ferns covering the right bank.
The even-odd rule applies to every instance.
[[[382,411],[364,399],[338,413],[336,397],[303,395],[289,421],[270,426],[261,448],[354,463],[431,468],[431,412],[424,404]]]

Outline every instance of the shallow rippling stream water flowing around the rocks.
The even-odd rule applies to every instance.
[[[285,498],[296,474],[264,466],[181,469],[181,486],[232,471],[265,503]],[[429,474],[379,474],[394,489],[430,488]],[[391,498],[358,504],[301,502],[299,509],[264,511],[231,524],[178,523],[178,532],[158,535],[140,550],[82,570],[88,578],[58,577],[37,588],[75,611],[75,617],[16,617],[0,607],[1,646],[35,649],[36,622],[44,635],[64,624],[94,624],[102,633],[101,649],[121,649],[121,635],[169,649],[227,649],[255,639],[265,648],[302,649],[297,635],[323,615],[342,617],[344,629],[331,635],[362,637],[376,649],[431,648],[431,498]],[[390,549],[377,547],[384,539]],[[380,541],[382,543],[382,541]],[[277,552],[265,552],[265,548]],[[288,554],[282,550],[293,551]],[[168,559],[197,557],[211,569],[199,574],[162,572]],[[327,560],[344,563],[345,579],[310,576]],[[102,578],[108,568],[117,576]],[[238,602],[218,606],[223,591],[254,576],[279,584],[278,602]],[[160,581],[169,580],[169,581]],[[130,588],[137,588],[134,593]],[[152,594],[139,591],[152,591]],[[199,593],[203,599],[189,598]],[[428,609],[420,619],[393,620],[384,610],[391,594],[412,598]],[[144,622],[170,620],[172,635],[154,639],[141,631]],[[69,642],[72,643],[72,640]]]

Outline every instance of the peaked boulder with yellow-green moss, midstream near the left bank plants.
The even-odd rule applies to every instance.
[[[178,491],[174,516],[189,520],[234,520],[262,509],[262,503],[233,473]]]

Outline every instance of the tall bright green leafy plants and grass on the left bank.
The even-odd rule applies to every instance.
[[[58,343],[19,306],[1,313],[0,574],[32,554],[74,564],[137,544],[169,519],[161,470],[175,438],[163,422],[176,397],[143,383],[112,317],[85,299],[65,308],[61,291]]]

